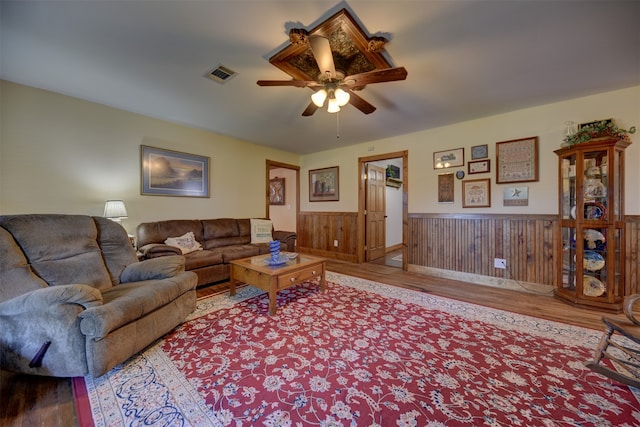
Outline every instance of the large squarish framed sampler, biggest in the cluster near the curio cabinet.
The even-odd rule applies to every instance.
[[[538,137],[496,142],[496,183],[538,181]]]

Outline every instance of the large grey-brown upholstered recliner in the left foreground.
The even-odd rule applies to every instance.
[[[196,282],[182,256],[138,261],[111,220],[0,216],[0,368],[101,376],[179,325]]]

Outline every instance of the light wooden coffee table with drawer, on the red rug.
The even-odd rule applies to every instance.
[[[314,277],[320,278],[320,290],[325,287],[325,259],[308,255],[298,255],[281,265],[269,265],[265,261],[269,254],[256,255],[231,261],[229,294],[236,294],[236,282],[255,286],[269,293],[269,314],[276,314],[276,294],[297,283]]]

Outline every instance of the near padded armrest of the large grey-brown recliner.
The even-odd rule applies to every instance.
[[[0,316],[38,313],[55,305],[77,304],[84,308],[102,305],[102,294],[88,285],[59,285],[36,289],[0,303]]]

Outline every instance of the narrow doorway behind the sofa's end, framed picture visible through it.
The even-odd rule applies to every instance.
[[[265,218],[275,230],[298,232],[300,167],[267,160]]]

